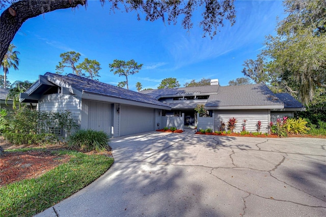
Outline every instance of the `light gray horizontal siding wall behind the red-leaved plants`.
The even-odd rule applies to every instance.
[[[269,110],[214,110],[214,126],[215,130],[220,130],[221,121],[227,124],[230,118],[236,118],[237,124],[235,132],[242,131],[243,120],[246,119],[246,130],[251,132],[257,131],[257,123],[261,121],[260,132],[267,132],[267,126],[270,122]]]

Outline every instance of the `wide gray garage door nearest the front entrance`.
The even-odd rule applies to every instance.
[[[120,135],[154,130],[154,108],[120,105]]]

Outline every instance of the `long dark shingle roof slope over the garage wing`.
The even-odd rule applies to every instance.
[[[44,75],[55,77],[56,79],[62,80],[62,82],[84,92],[116,97],[121,99],[128,99],[132,101],[144,102],[154,105],[168,106],[167,104],[162,103],[146,94],[104,84],[96,80],[88,79],[86,77],[81,77],[74,74],[68,74],[67,76],[63,76],[50,72],[47,72]]]

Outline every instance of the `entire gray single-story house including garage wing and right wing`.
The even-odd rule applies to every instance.
[[[21,102],[38,103],[39,111],[69,110],[83,129],[103,130],[110,137],[152,131],[164,127],[195,127],[201,119],[195,111],[204,104],[210,119],[201,125],[219,130],[230,118],[241,131],[244,119],[248,131],[267,131],[270,121],[293,116],[305,107],[289,94],[273,94],[265,85],[210,86],[134,92],[74,74],[45,73],[25,93]],[[204,120],[204,121],[203,121]],[[203,125],[204,123],[204,125]],[[206,124],[207,123],[207,124]]]

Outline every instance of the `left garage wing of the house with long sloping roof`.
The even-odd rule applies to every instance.
[[[155,130],[161,111],[171,110],[146,94],[49,72],[20,94],[20,102],[38,103],[39,111],[69,110],[80,128],[103,130],[110,137]]]

